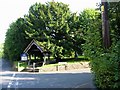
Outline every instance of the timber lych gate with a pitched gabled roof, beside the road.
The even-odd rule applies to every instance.
[[[43,48],[41,48],[35,40],[30,42],[24,50],[24,53],[28,56],[28,65],[35,63],[36,66],[42,66],[46,64],[46,56],[48,59],[50,58],[50,52],[43,51]]]

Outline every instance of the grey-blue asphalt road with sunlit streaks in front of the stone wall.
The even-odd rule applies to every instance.
[[[72,90],[74,90],[74,88],[89,88],[96,90],[92,82],[90,69],[45,73],[13,72],[10,71],[11,66],[6,65],[6,61],[2,61],[2,83],[0,83],[2,88],[72,88]],[[6,68],[8,70],[6,70]]]

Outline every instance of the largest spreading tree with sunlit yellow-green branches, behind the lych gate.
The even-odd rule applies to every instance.
[[[51,44],[48,49],[54,57],[81,52],[79,18],[70,12],[68,5],[58,2],[36,3],[30,7],[25,20],[28,36],[40,42],[49,42],[46,44]]]

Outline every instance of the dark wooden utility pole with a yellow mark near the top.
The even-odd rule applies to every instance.
[[[107,0],[101,0],[101,11],[102,11],[102,34],[103,44],[105,48],[110,47],[110,33],[109,33],[109,21],[108,21],[108,2]]]

